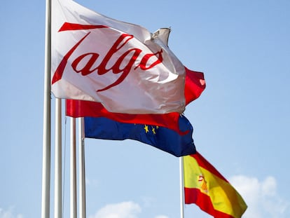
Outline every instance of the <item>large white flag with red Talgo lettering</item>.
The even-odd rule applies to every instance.
[[[53,94],[101,102],[115,113],[182,113],[185,69],[167,46],[169,31],[151,34],[74,1],[54,0]]]

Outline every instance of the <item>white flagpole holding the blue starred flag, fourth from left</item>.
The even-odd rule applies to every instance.
[[[85,218],[85,141],[83,133],[83,117],[78,118],[78,135],[79,135],[79,207],[80,218]]]

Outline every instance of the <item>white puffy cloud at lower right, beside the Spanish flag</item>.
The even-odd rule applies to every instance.
[[[243,218],[286,218],[289,216],[290,202],[282,199],[277,193],[277,182],[274,177],[258,181],[255,177],[239,175],[229,180],[248,205]]]

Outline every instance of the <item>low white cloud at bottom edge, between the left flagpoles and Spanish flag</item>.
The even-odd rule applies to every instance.
[[[141,207],[132,201],[106,205],[89,218],[137,218]]]

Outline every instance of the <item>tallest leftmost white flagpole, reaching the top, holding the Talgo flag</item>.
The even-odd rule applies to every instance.
[[[50,217],[50,38],[51,38],[51,1],[46,0],[46,36],[45,36],[45,69],[43,97],[43,158],[42,158],[42,190],[41,217]]]

